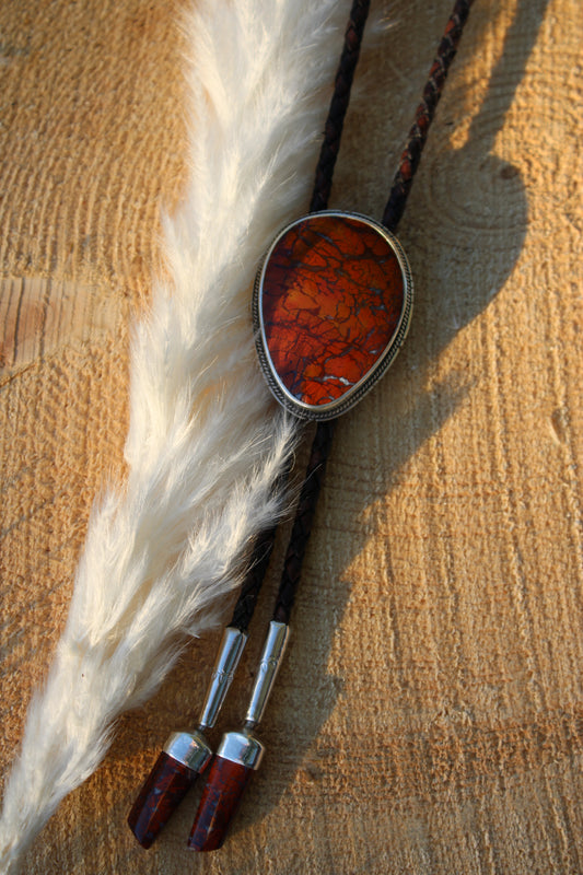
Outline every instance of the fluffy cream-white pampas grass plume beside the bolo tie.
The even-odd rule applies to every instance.
[[[67,626],[33,700],[0,820],[16,872],[59,802],[104,757],[185,632],[215,622],[242,555],[280,508],[293,447],[255,363],[249,285],[273,233],[304,211],[348,4],[198,0],[185,19],[188,189],[165,223],[170,281],[130,355],[128,477],[90,520]]]

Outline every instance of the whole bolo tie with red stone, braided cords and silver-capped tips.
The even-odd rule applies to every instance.
[[[272,620],[243,727],[223,735],[213,755],[207,734],[217,722],[247,641],[275,528],[263,533],[253,548],[249,571],[223,632],[197,727],[172,733],[129,813],[129,826],[143,848],[150,848],[197,775],[202,774],[206,783],[188,847],[195,851],[219,849],[261,762],[264,745],[254,733],[288,644],[290,616],[336,419],[383,376],[407,335],[412,280],[395,232],[471,3],[457,0],[447,21],[380,222],[328,209],[370,0],[354,0],[352,4],[310,211],[277,235],[258,268],[253,291],[257,355],[267,384],[293,416],[317,423]],[[279,488],[289,474],[281,475]]]

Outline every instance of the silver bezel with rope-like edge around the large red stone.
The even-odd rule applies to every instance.
[[[261,306],[261,299],[263,299],[263,284],[265,279],[265,270],[269,258],[278,243],[280,242],[281,237],[287,234],[292,228],[300,224],[301,222],[305,222],[306,220],[314,219],[318,215],[331,215],[338,217],[343,219],[354,219],[357,221],[366,224],[375,231],[377,231],[388,243],[393,252],[395,253],[400,271],[403,277],[403,288],[404,288],[404,303],[403,310],[400,314],[400,318],[393,335],[390,342],[387,345],[383,354],[378,358],[376,363],[373,368],[369,371],[369,373],[358,383],[355,383],[352,388],[350,388],[345,395],[340,398],[329,401],[325,405],[310,405],[304,401],[300,401],[295,398],[290,390],[283,385],[281,382],[273,363],[271,361],[271,357],[269,354],[269,349],[267,346],[266,335],[265,335],[265,325],[263,319],[263,306]],[[398,351],[400,350],[405,338],[407,337],[407,331],[409,330],[409,323],[412,312],[412,303],[413,303],[413,282],[411,276],[411,269],[409,267],[409,262],[407,260],[407,256],[403,249],[397,237],[387,231],[387,229],[382,225],[380,222],[376,222],[374,219],[370,219],[368,215],[362,215],[361,213],[357,212],[347,212],[342,210],[322,210],[320,212],[313,212],[308,213],[307,215],[302,215],[300,219],[291,222],[290,224],[285,225],[285,228],[280,231],[277,235],[275,241],[271,243],[271,246],[267,250],[259,270],[257,271],[257,276],[255,279],[254,292],[253,292],[253,325],[255,331],[255,346],[257,348],[257,355],[259,359],[259,364],[264,376],[267,381],[267,384],[275,395],[277,400],[289,410],[291,413],[296,416],[299,419],[311,419],[311,420],[326,420],[326,419],[334,419],[341,413],[346,413],[348,410],[351,410],[363,397],[366,395],[373,386],[381,380],[384,375],[386,370],[389,365],[394,362]]]

